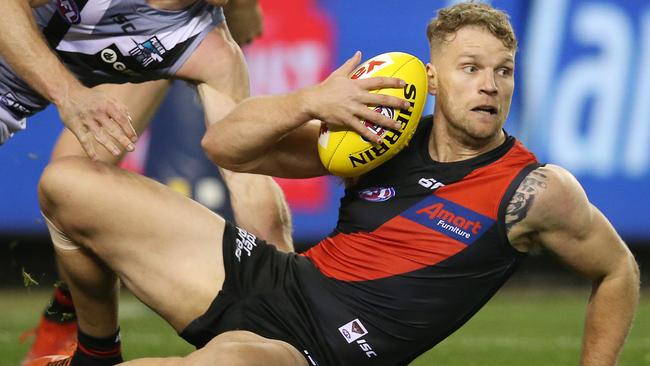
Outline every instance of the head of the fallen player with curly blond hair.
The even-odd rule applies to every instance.
[[[436,118],[470,140],[499,132],[514,91],[517,39],[508,15],[482,3],[438,11],[427,26],[429,91]]]

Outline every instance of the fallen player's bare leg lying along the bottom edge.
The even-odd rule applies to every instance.
[[[307,361],[290,344],[246,331],[231,331],[213,338],[187,357],[143,358],[125,366],[307,366]]]

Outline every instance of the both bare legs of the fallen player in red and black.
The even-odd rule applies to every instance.
[[[56,250],[84,333],[103,337],[117,330],[113,273],[178,332],[202,315],[221,289],[224,220],[167,187],[72,158],[46,169],[39,197],[46,217],[69,239]],[[249,332],[225,333],[169,362],[306,364],[294,347]]]

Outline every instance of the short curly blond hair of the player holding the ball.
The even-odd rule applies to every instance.
[[[467,26],[482,27],[500,39],[506,48],[517,51],[517,37],[508,14],[489,4],[476,2],[458,3],[438,10],[438,15],[427,25],[429,45],[437,49],[449,41],[449,36]]]

